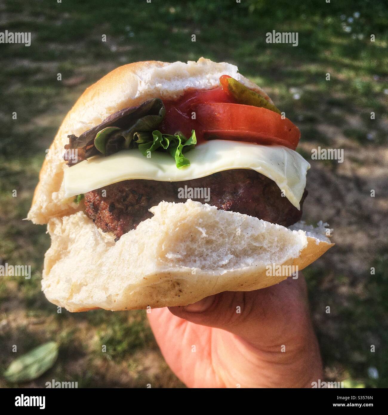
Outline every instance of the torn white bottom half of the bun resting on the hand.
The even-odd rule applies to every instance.
[[[69,311],[188,305],[279,283],[333,245],[324,225],[291,230],[192,200],[151,212],[116,243],[83,212],[51,219],[42,281],[49,301]]]

